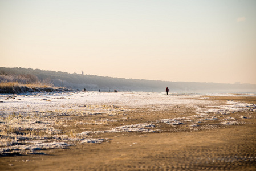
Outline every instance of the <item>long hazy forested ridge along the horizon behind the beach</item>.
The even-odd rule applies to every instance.
[[[152,91],[164,92],[168,87],[170,92],[245,92],[256,91],[255,84],[223,84],[223,83],[198,83],[198,82],[165,82],[159,80],[140,80],[111,78],[96,75],[69,74],[67,72],[44,71],[32,68],[6,68],[0,67],[0,82],[2,76],[29,75],[41,82],[50,82],[56,87],[69,89],[84,89],[86,91]],[[2,79],[1,79],[2,78]]]

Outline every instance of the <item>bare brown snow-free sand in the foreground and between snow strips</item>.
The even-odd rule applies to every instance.
[[[224,103],[227,100],[256,104],[256,97],[214,97],[208,100]],[[87,125],[87,130],[105,130],[120,125],[150,123],[162,118],[194,115],[186,106],[166,110],[133,108],[124,117],[108,116],[116,122]],[[52,149],[46,155],[1,157],[0,170],[256,170],[256,112],[234,112],[223,117],[239,119],[243,124],[220,125],[209,120],[198,123],[198,130],[188,124],[156,124],[155,133],[116,132],[97,133],[104,138],[101,144],[85,143],[68,149]],[[106,116],[60,116],[70,118],[61,129],[84,131],[83,120],[102,120]],[[220,121],[219,121],[220,122]],[[158,130],[158,131],[157,131]]]

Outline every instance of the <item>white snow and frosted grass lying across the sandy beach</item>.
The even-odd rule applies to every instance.
[[[216,94],[217,96],[217,94]],[[234,96],[234,94],[230,94]],[[241,96],[241,95],[238,95]],[[251,94],[250,94],[251,96]],[[27,153],[36,154],[43,149],[68,148],[76,143],[103,143],[105,139],[92,137],[99,133],[116,132],[161,132],[156,124],[188,125],[190,129],[206,129],[200,127],[205,121],[217,121],[216,128],[221,125],[242,124],[243,119],[229,117],[230,113],[239,111],[256,111],[253,104],[218,100],[194,94],[173,94],[154,92],[58,92],[34,93],[23,95],[0,95],[0,154]],[[162,118],[151,123],[137,123],[80,133],[63,133],[56,129],[65,127],[68,120],[59,120],[58,116],[125,116],[125,111],[134,108],[147,108],[152,111],[172,109],[179,106],[192,108],[191,116]],[[96,122],[96,123],[95,123]],[[112,120],[94,121],[94,124],[110,123]],[[81,122],[78,124],[91,124]],[[86,127],[86,126],[85,126]],[[215,127],[215,126],[214,126]],[[72,130],[71,130],[72,131]]]

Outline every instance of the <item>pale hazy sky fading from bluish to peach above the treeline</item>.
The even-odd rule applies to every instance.
[[[256,84],[256,1],[0,0],[0,67]]]

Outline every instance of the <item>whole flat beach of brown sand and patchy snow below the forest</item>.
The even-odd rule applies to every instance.
[[[255,93],[0,95],[0,170],[256,170]]]

